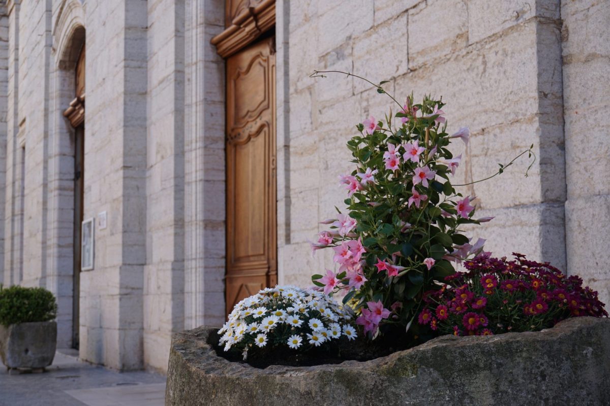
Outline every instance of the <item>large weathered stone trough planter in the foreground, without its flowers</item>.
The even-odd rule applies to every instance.
[[[253,368],[210,343],[217,329],[175,334],[166,405],[608,405],[610,319],[541,332],[445,336],[367,362]]]

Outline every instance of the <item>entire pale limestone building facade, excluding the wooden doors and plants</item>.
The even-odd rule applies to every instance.
[[[8,0],[0,16],[0,281],[59,301],[73,323],[74,131],[62,116],[85,66],[84,217],[95,268],[81,273],[81,358],[167,369],[171,333],[224,320],[224,29],[221,0]],[[389,99],[442,95],[450,130],[470,127],[456,183],[528,159],[464,192],[495,219],[472,229],[498,256],[550,261],[610,301],[610,2],[276,2],[278,278],[307,285],[310,255],[341,206],[354,124]]]

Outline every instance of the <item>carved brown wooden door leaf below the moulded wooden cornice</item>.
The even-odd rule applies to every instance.
[[[276,284],[274,38],[226,61],[226,309]]]

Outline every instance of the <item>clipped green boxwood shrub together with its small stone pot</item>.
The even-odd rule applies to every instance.
[[[57,346],[55,296],[42,287],[0,285],[0,357],[8,369],[51,365]]]

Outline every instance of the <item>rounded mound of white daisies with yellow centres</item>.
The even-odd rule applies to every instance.
[[[218,332],[224,351],[257,346],[318,347],[331,340],[354,340],[351,315],[322,292],[276,286],[237,303]]]

